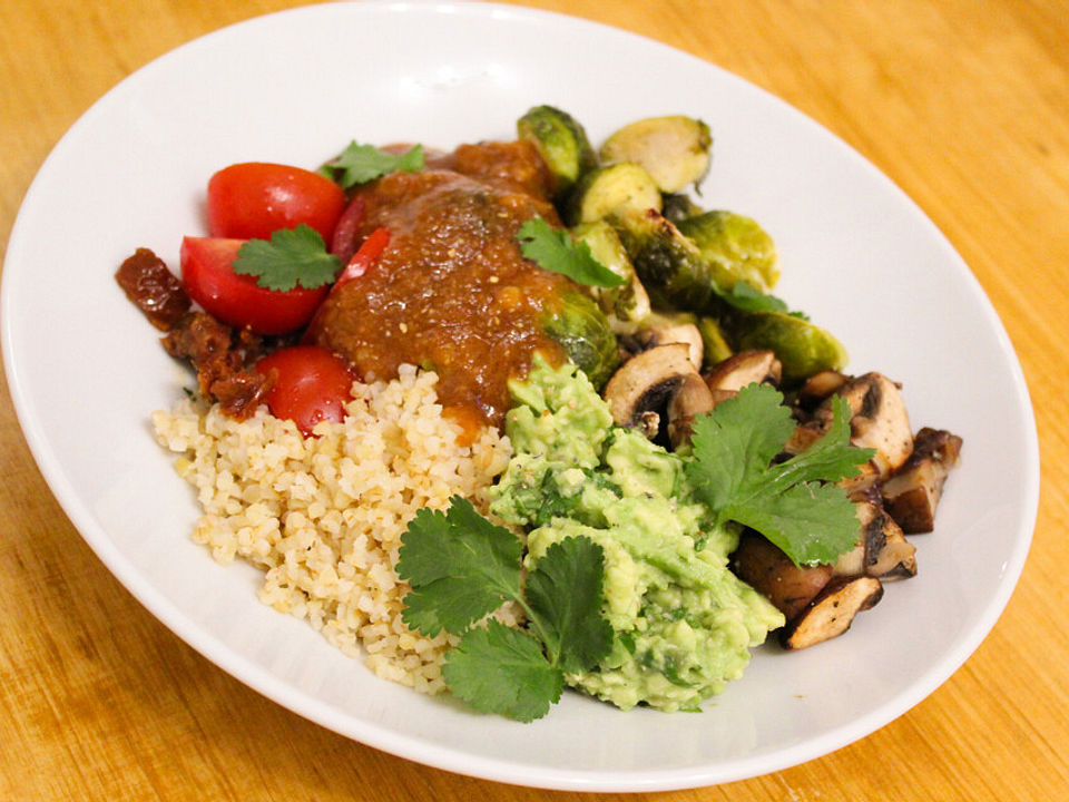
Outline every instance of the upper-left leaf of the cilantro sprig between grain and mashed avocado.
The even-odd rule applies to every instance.
[[[454,496],[445,514],[421,509],[409,524],[398,576],[412,589],[402,619],[434,637],[459,635],[520,593],[522,545],[504,527],[483,518]]]

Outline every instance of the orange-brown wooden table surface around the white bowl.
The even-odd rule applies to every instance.
[[[150,59],[287,0],[0,3],[0,248],[50,148]],[[1020,584],[965,665],[823,759],[678,800],[1069,799],[1069,2],[524,0],[645,33],[778,95],[912,196],[1017,349],[1043,458]],[[62,235],[61,229],[57,232]],[[997,424],[992,422],[992,424]],[[0,391],[0,799],[578,799],[350,742],[153,618],[39,475]]]

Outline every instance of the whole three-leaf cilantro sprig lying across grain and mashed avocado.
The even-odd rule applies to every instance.
[[[523,547],[462,497],[445,512],[421,509],[402,536],[398,576],[411,586],[404,623],[433,637],[443,629],[460,643],[443,675],[454,695],[477,710],[530,722],[549,712],[565,674],[592,668],[612,645],[601,617],[605,555],[589,538],[550,546],[522,588]],[[490,619],[517,602],[527,629]]]

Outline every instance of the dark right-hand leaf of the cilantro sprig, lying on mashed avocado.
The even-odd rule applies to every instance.
[[[612,627],[601,617],[605,555],[586,537],[550,546],[527,578],[527,600],[549,662],[568,674],[609,654]]]

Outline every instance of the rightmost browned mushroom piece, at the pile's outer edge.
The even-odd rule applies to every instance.
[[[961,438],[925,427],[916,433],[913,453],[882,489],[891,517],[906,534],[930,532],[943,485],[961,456]]]

